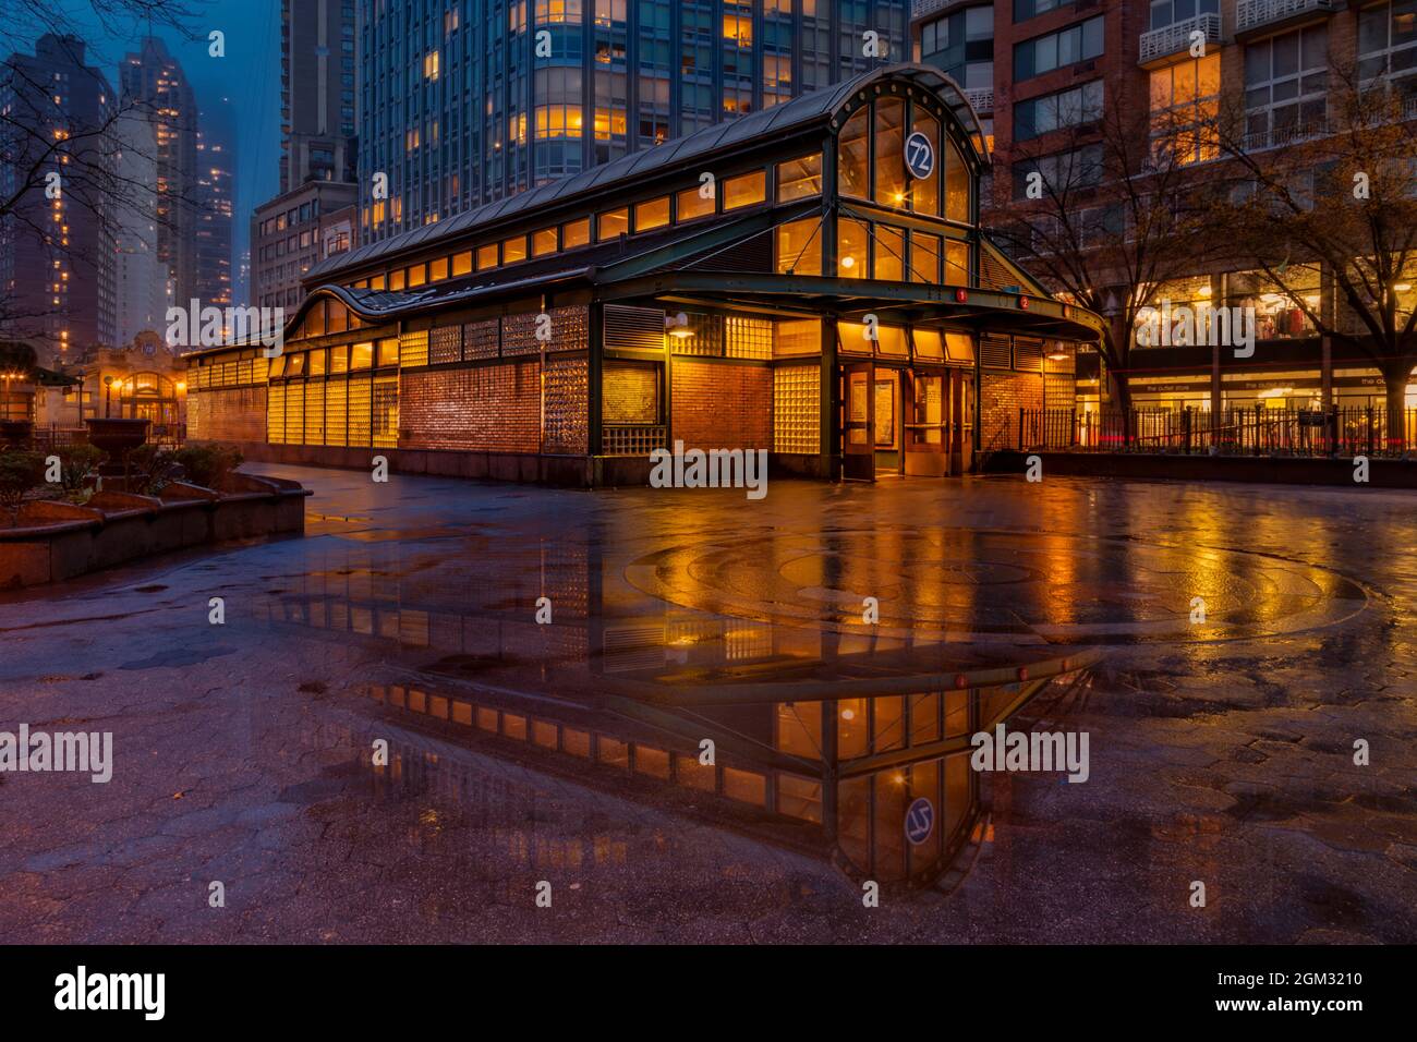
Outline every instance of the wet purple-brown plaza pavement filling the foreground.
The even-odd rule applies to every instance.
[[[1417,940],[1410,495],[248,469],[315,489],[303,539],[0,594],[0,730],[115,747],[0,774],[0,941]],[[823,690],[1090,651],[1019,724],[1088,781],[989,777],[948,886],[863,907],[820,792],[755,795]],[[694,702],[751,686],[819,693]]]

